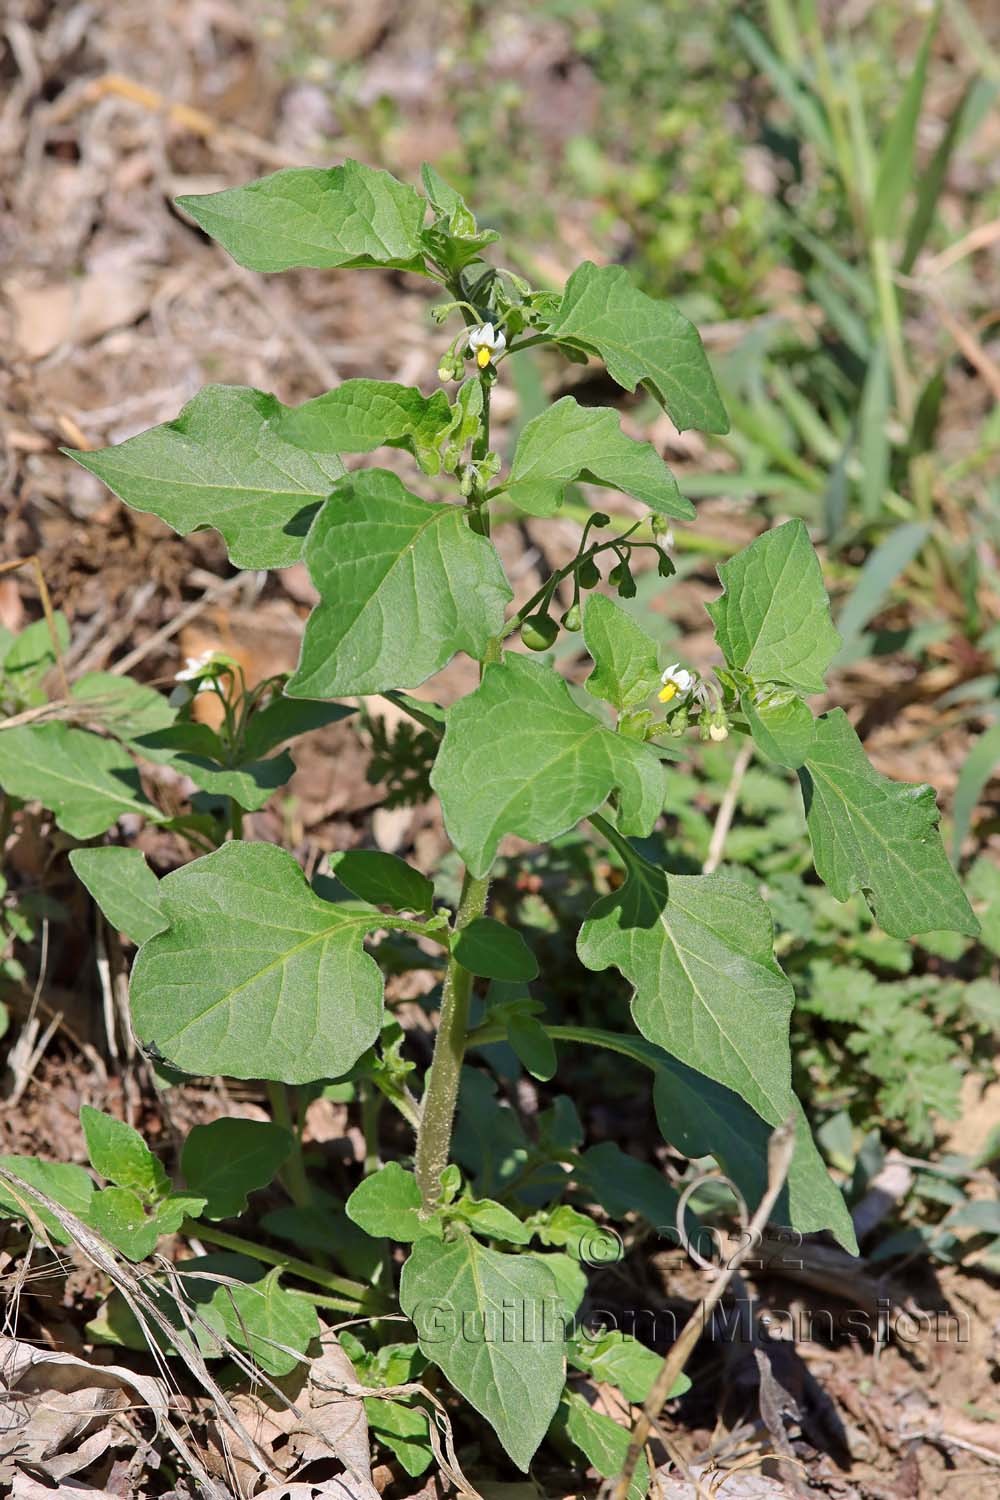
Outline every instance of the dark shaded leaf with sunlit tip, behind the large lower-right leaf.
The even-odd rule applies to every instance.
[[[664,1140],[682,1155],[715,1156],[733,1179],[750,1212],[768,1186],[768,1125],[732,1089],[663,1058],[654,1084],[657,1120]],[[771,1215],[772,1222],[801,1234],[829,1230],[852,1256],[858,1254],[855,1227],[844,1197],[816,1149],[802,1106],[796,1101],[795,1155],[789,1178]],[[793,1257],[795,1248],[789,1251]]]

